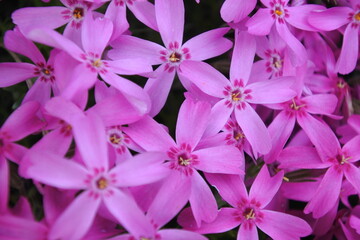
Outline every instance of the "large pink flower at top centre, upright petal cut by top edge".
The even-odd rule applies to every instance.
[[[148,79],[144,89],[152,102],[150,115],[155,116],[164,106],[169,95],[175,73],[179,73],[182,64],[187,60],[203,61],[218,56],[231,47],[231,41],[223,35],[229,28],[207,31],[191,38],[183,44],[184,2],[183,0],[155,1],[156,21],[165,47],[132,36],[120,36],[111,43],[111,59],[138,59],[151,65],[161,64],[155,76]],[[182,84],[187,87],[186,79]]]

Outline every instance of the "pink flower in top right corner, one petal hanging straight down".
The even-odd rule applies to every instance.
[[[341,52],[335,66],[335,71],[341,74],[348,74],[355,69],[359,52],[360,4],[359,1],[351,0],[348,5],[313,11],[308,16],[308,22],[322,31],[331,31],[346,25]]]

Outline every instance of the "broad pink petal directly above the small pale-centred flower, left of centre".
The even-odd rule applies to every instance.
[[[143,104],[131,102],[123,94],[118,93],[97,102],[88,112],[95,112],[105,126],[110,127],[136,122],[147,113],[147,110]]]

